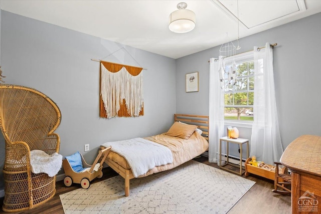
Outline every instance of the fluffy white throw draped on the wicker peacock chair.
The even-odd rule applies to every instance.
[[[62,155],[57,152],[52,155],[42,150],[30,151],[30,165],[33,173],[47,173],[49,177],[55,176],[62,165]]]

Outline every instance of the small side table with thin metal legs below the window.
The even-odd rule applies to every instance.
[[[220,158],[222,158],[222,141],[226,141],[227,142],[227,146],[226,146],[226,162],[224,165],[222,165],[222,160],[218,160],[220,161],[219,166],[221,169],[236,173],[238,175],[242,175],[245,172],[245,167],[242,166],[242,145],[244,143],[246,143],[246,158],[249,157],[249,140],[248,139],[243,139],[243,138],[237,138],[237,139],[233,139],[233,138],[228,138],[228,137],[221,137],[220,138]],[[230,163],[229,162],[229,143],[237,143],[240,146],[240,165],[238,164],[234,164],[234,163]],[[229,168],[226,168],[225,166],[230,165],[230,166],[234,166],[234,167],[240,167],[240,172],[236,172],[233,171]],[[244,170],[243,170],[244,169]]]

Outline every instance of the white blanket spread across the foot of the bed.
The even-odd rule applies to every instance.
[[[111,146],[111,151],[123,156],[135,177],[155,166],[173,163],[173,153],[169,148],[143,138],[107,142],[102,146]]]

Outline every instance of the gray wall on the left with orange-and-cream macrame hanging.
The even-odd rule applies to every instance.
[[[80,151],[88,163],[106,141],[167,131],[176,110],[175,60],[55,25],[2,11],[1,66],[7,84],[35,88],[59,106],[63,156]],[[138,66],[143,70],[144,116],[99,118],[99,63],[90,59]],[[2,136],[2,135],[1,135]],[[84,152],[84,144],[90,151]],[[0,168],[5,143],[0,139]],[[60,172],[61,173],[61,172]],[[0,172],[0,190],[4,188]]]

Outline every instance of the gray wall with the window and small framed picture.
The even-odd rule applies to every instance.
[[[321,13],[240,39],[242,53],[266,42],[273,50],[276,104],[283,148],[304,134],[321,135]],[[234,44],[237,44],[234,42]],[[209,59],[214,47],[176,60],[176,111],[209,114]],[[185,92],[185,74],[199,72],[199,92]],[[239,127],[251,139],[251,129]],[[233,149],[232,149],[233,150]],[[237,148],[234,149],[234,154]]]

